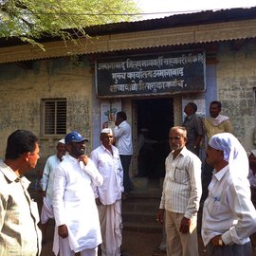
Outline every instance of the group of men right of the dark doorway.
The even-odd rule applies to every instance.
[[[210,103],[207,119],[198,118],[196,109],[193,102],[188,103],[183,125],[174,126],[169,134],[172,152],[165,162],[157,214],[157,220],[165,223],[167,256],[199,255],[196,218],[200,205],[201,236],[209,256],[251,255],[249,236],[256,231],[256,211],[248,171],[250,167],[255,181],[256,157],[248,165],[248,156],[256,151],[247,156],[231,134],[229,118],[220,114],[219,101]],[[208,146],[202,168],[198,148],[204,135]]]

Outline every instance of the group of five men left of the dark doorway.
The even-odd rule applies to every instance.
[[[113,146],[114,135],[118,147]],[[5,160],[0,162],[1,256],[40,256],[49,218],[55,219],[55,255],[97,256],[101,245],[102,256],[120,256],[121,194],[132,189],[124,177],[133,148],[126,114],[117,114],[114,131],[101,130],[101,145],[91,157],[85,154],[86,142],[77,131],[70,132],[58,141],[57,154],[46,160],[42,240],[37,205],[24,176],[39,158],[38,137],[27,130],[9,136]]]

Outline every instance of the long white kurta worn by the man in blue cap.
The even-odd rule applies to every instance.
[[[103,178],[89,159],[83,166],[67,155],[54,175],[53,210],[56,227],[66,225],[69,245],[75,252],[98,247],[101,227],[91,183],[101,186]],[[55,235],[53,251],[59,251],[59,236]]]

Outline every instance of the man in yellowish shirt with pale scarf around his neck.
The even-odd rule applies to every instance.
[[[207,145],[210,141],[210,137],[219,133],[231,133],[232,126],[228,117],[221,115],[221,102],[210,102],[210,117],[204,119],[204,129],[207,140]],[[202,172],[202,186],[203,193],[201,198],[201,205],[204,203],[208,196],[208,186],[210,184],[213,167],[209,165],[207,161],[204,163],[204,169]]]

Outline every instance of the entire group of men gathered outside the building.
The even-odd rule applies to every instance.
[[[210,175],[207,196],[203,202],[201,199],[201,235],[208,255],[251,254],[249,236],[256,231],[256,211],[250,198],[248,171],[250,168],[255,175],[256,158],[249,165],[248,157],[256,152],[247,155],[231,135],[229,119],[220,111],[220,102],[212,101],[210,118],[204,121],[208,147],[203,172],[198,157],[203,131],[198,125],[201,120],[195,116],[196,105],[186,105],[184,126],[170,130],[171,153],[165,161],[157,214],[157,220],[165,223],[168,256],[199,255],[196,224],[204,175]],[[118,148],[113,146],[114,138]],[[102,256],[119,256],[121,193],[133,189],[129,178],[133,146],[126,114],[117,114],[114,131],[102,129],[101,146],[92,151],[90,158],[85,154],[87,141],[76,131],[68,133],[58,142],[57,155],[47,159],[41,215],[43,241],[47,220],[54,216],[55,255],[74,256],[80,252],[82,256],[97,256],[101,245]],[[38,158],[38,138],[31,132],[17,130],[9,136],[5,159],[0,162],[0,256],[40,255],[39,215],[24,176],[35,168]],[[52,174],[50,165],[54,166]],[[211,171],[205,171],[207,165]]]

